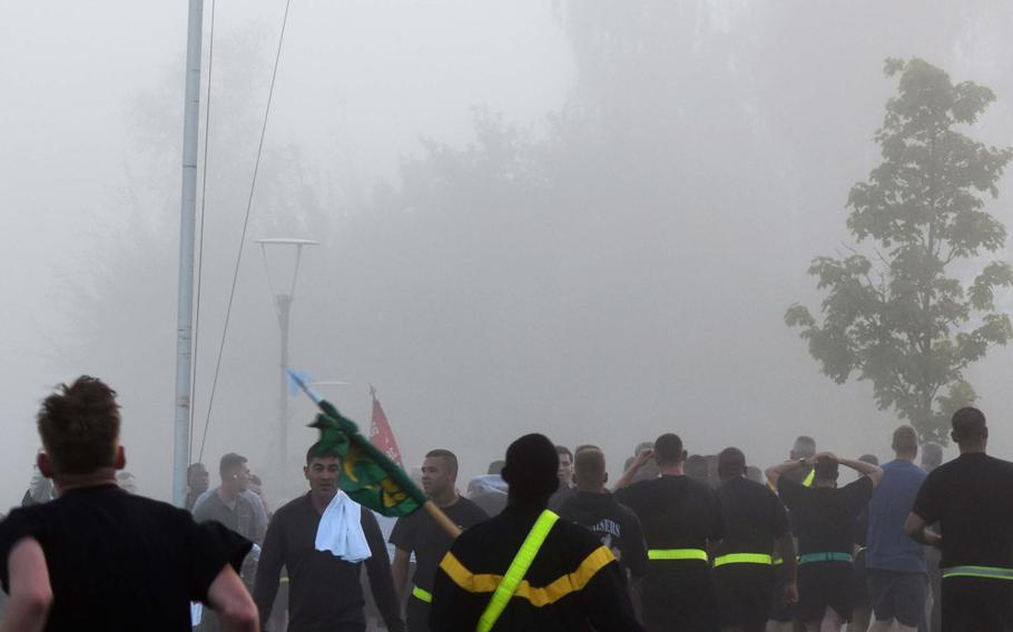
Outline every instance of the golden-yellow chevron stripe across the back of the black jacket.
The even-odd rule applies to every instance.
[[[584,557],[583,562],[580,563],[580,566],[572,573],[562,575],[543,587],[532,587],[531,584],[528,583],[528,580],[523,580],[518,585],[513,596],[528,600],[531,605],[535,608],[549,605],[550,603],[561,600],[571,592],[583,590],[584,586],[588,585],[588,582],[591,581],[591,577],[593,577],[602,566],[614,560],[616,557],[608,547],[599,546],[592,551],[590,555]],[[443,561],[440,562],[440,567],[443,569],[443,572],[445,572],[455,584],[470,593],[494,592],[496,586],[500,585],[500,582],[503,581],[503,575],[472,573],[464,567],[464,564],[462,564],[453,553],[448,553],[443,557]]]

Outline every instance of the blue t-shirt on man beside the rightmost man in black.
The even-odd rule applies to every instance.
[[[925,572],[922,545],[904,533],[925,472],[898,458],[883,465],[883,480],[868,503],[868,550],[865,564],[883,571]]]

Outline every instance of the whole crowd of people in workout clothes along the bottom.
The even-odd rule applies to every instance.
[[[228,453],[173,507],[137,494],[120,423],[96,378],[43,402],[36,476],[0,522],[0,631],[1013,631],[1013,464],[975,408],[948,463],[907,425],[882,465],[800,436],[765,471],[665,433],[611,483],[601,448],[529,434],[462,493],[433,448],[420,483],[453,532],[351,501],[321,445],[281,506]]]

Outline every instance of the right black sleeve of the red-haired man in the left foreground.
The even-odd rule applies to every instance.
[[[207,603],[207,591],[218,573],[230,564],[238,573],[243,559],[253,547],[253,542],[229,531],[217,522],[197,524],[190,514],[180,514],[186,521],[190,552],[190,600]]]

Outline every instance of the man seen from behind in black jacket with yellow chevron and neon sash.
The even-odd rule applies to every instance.
[[[559,486],[557,467],[543,435],[524,435],[506,448],[506,508],[462,533],[440,562],[432,630],[474,632],[483,614],[496,632],[641,630],[612,552],[588,530],[545,511]],[[495,591],[522,547],[530,565],[500,601]],[[493,600],[504,606],[499,615],[490,610]]]

